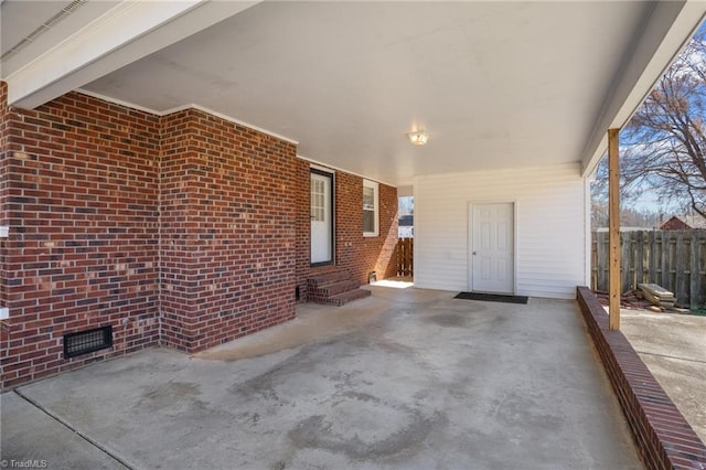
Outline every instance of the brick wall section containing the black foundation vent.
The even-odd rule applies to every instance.
[[[158,126],[76,93],[3,116],[3,387],[157,344]],[[63,359],[107,324],[113,350]]]

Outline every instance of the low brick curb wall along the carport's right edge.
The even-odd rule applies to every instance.
[[[706,447],[587,287],[578,302],[648,469],[706,468]]]

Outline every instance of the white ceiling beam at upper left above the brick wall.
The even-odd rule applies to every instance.
[[[3,78],[8,104],[35,108],[256,3],[124,0]]]

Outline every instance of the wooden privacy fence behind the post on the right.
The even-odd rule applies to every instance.
[[[620,234],[622,292],[651,282],[671,290],[680,306],[706,303],[706,231],[644,231]],[[608,290],[608,233],[593,232],[591,288]]]

